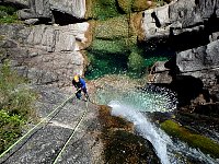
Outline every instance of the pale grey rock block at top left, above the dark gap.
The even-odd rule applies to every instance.
[[[12,3],[23,3],[21,0],[8,0]],[[28,0],[25,1],[25,9],[19,11],[19,16],[22,20],[26,19],[54,19],[53,11],[69,14],[77,19],[85,16],[85,0]]]

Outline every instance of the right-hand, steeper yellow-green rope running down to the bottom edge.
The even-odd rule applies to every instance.
[[[61,156],[62,152],[65,151],[66,147],[68,145],[68,143],[70,142],[70,140],[72,139],[72,137],[74,136],[78,127],[80,126],[80,124],[82,122],[87,112],[88,112],[88,102],[85,103],[85,112],[83,113],[83,115],[81,116],[80,120],[78,121],[78,124],[76,125],[76,127],[73,128],[72,133],[70,134],[70,137],[68,138],[68,140],[66,141],[66,143],[64,144],[62,149],[60,150],[60,152],[58,153],[58,155],[56,156],[55,161],[53,162],[53,164],[56,164],[58,162],[58,159]]]

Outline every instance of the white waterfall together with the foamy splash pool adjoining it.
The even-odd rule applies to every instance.
[[[172,140],[163,130],[149,121],[148,113],[171,113],[176,108],[177,99],[170,90],[153,85],[141,90],[114,91],[114,87],[105,87],[99,90],[96,96],[100,104],[112,107],[112,115],[122,116],[134,122],[136,133],[152,143],[162,164],[219,163],[218,160],[189,148],[180,140]]]

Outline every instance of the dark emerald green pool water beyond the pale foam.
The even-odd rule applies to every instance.
[[[164,56],[142,57],[140,68],[139,65],[136,63],[136,69],[135,66],[130,69],[128,68],[128,57],[126,55],[89,52],[88,57],[90,60],[85,72],[85,78],[88,80],[97,79],[105,74],[126,74],[135,79],[141,78],[155,61],[165,61],[170,58]]]

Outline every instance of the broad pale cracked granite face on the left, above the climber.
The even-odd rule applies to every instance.
[[[20,74],[35,84],[70,85],[73,74],[84,73],[85,59],[80,50],[88,43],[88,23],[67,26],[1,25],[3,54],[12,59]],[[2,59],[3,60],[3,59]]]

